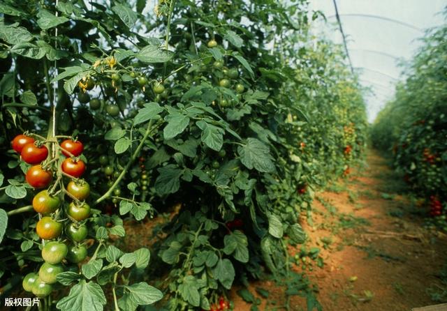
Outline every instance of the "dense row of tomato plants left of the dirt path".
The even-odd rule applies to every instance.
[[[0,216],[17,218],[2,280],[41,270],[24,287],[59,310],[225,310],[235,283],[266,271],[315,301],[285,250],[306,240],[297,219],[314,190],[365,146],[344,54],[312,38],[319,14],[304,0],[145,3],[0,6],[0,57],[15,65],[1,73],[0,125],[16,151],[1,142],[14,208]],[[31,167],[13,139],[23,130],[31,151],[47,149]],[[117,247],[126,222],[164,213],[152,252]]]

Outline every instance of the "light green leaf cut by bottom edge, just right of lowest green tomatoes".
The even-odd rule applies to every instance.
[[[56,307],[64,311],[102,311],[105,300],[103,289],[95,282],[81,280]]]

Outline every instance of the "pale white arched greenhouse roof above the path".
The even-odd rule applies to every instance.
[[[371,89],[365,94],[368,120],[393,98],[395,83],[402,79],[400,63],[418,50],[425,30],[445,23],[447,0],[310,0],[328,20],[316,22],[314,31],[323,32],[335,43],[343,43],[338,15],[353,70],[360,83]]]

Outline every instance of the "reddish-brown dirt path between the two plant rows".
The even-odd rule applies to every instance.
[[[405,185],[375,151],[367,165],[347,179],[316,193],[313,224],[307,250],[321,248],[323,268],[306,264],[324,311],[410,311],[433,305],[430,288],[440,284],[446,263],[447,236],[423,226],[423,207],[403,195]],[[300,248],[291,250],[291,255]],[[308,258],[307,258],[308,259]],[[309,262],[309,261],[307,261]],[[302,271],[302,259],[297,271]],[[309,267],[312,266],[312,271]],[[256,287],[270,291],[265,299]],[[285,310],[284,289],[274,282],[256,282],[249,289],[261,299],[258,310]],[[251,310],[233,292],[235,310]],[[292,296],[291,310],[307,310],[305,301]]]

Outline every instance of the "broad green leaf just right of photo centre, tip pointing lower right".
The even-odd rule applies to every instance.
[[[247,144],[237,148],[240,160],[249,169],[256,169],[258,172],[273,172],[274,164],[270,149],[263,142],[256,138],[247,139]]]

